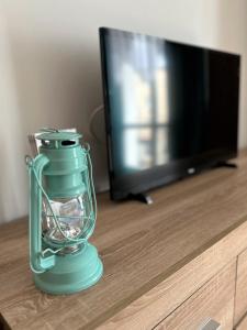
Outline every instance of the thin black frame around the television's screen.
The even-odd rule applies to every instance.
[[[102,74],[102,86],[103,86],[103,100],[104,100],[104,119],[105,119],[105,134],[106,134],[106,148],[108,148],[108,168],[109,168],[109,179],[110,179],[110,196],[113,200],[122,200],[127,198],[130,195],[144,194],[151,189],[176,183],[181,178],[199,174],[202,170],[213,168],[220,163],[227,162],[232,158],[235,158],[238,154],[238,122],[239,122],[239,82],[238,82],[238,100],[237,100],[237,136],[235,141],[235,150],[233,152],[217,152],[211,151],[204,154],[195,155],[193,157],[188,157],[184,160],[177,160],[169,162],[168,164],[155,166],[148,169],[139,170],[130,175],[124,175],[122,177],[114,176],[114,167],[112,162],[112,139],[111,139],[111,108],[109,101],[109,88],[108,88],[108,64],[105,57],[105,47],[104,47],[104,36],[109,31],[116,31],[126,34],[133,35],[146,35],[142,33],[127,32],[111,28],[100,28],[100,55],[101,55],[101,74]],[[150,35],[147,35],[150,36]],[[206,51],[213,51],[229,55],[235,55],[239,59],[239,80],[240,81],[240,61],[242,57],[239,54],[216,51],[209,47],[202,47],[191,44],[186,44],[181,42],[175,42],[167,38],[161,38],[157,36],[151,36],[157,40],[162,40],[166,42],[172,42],[177,44],[182,44],[187,46],[192,46],[197,48],[202,48]]]

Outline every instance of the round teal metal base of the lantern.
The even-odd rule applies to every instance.
[[[103,274],[97,249],[87,243],[74,254],[56,255],[55,266],[42,274],[34,274],[41,290],[53,295],[68,295],[94,285]]]

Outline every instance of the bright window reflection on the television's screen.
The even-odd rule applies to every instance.
[[[168,75],[164,47],[157,42],[147,43],[146,38],[137,35],[132,38],[131,47],[130,41],[128,47],[122,45],[124,55],[119,56],[123,61],[117,61],[122,166],[131,172],[161,165],[169,158]]]

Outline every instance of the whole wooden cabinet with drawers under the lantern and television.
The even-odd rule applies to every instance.
[[[33,285],[26,217],[1,224],[0,329],[246,330],[247,151],[234,162],[238,175],[218,168],[151,190],[150,207],[99,194],[104,276],[75,295]]]

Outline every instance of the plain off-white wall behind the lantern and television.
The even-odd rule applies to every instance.
[[[98,28],[112,26],[243,55],[239,146],[247,145],[246,0],[2,0],[0,11],[0,221],[27,213],[26,134],[77,127],[93,147],[98,189],[108,186],[102,143],[88,120],[102,103]]]

